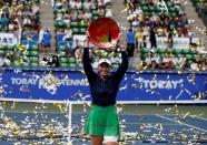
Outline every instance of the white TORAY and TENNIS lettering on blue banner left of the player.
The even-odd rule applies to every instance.
[[[39,81],[38,81],[39,80]],[[57,79],[58,84],[60,85],[80,85],[80,86],[87,86],[88,81],[87,79]],[[11,77],[11,84],[13,85],[37,85],[39,89],[42,89],[46,83],[45,79],[26,79],[26,77]]]

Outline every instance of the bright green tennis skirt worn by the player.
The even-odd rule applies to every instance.
[[[105,107],[92,105],[85,125],[85,132],[88,135],[119,136],[119,120],[115,105]]]

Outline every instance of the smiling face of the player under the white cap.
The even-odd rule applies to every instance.
[[[110,74],[110,65],[106,62],[98,65],[98,72],[103,79]]]

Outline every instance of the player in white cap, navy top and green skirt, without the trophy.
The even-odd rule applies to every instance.
[[[85,44],[82,63],[92,97],[85,132],[90,136],[91,145],[118,145],[120,126],[116,96],[119,83],[128,69],[126,44],[121,44],[120,50],[122,61],[116,72],[111,72],[111,62],[108,59],[100,59],[98,71],[95,72],[89,59],[89,40]]]

